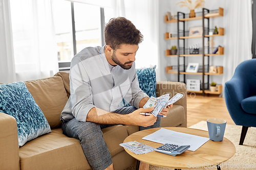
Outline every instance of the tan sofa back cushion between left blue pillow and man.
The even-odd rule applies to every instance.
[[[59,127],[60,113],[65,107],[68,96],[61,77],[54,76],[25,82],[35,102],[45,114],[51,128]]]

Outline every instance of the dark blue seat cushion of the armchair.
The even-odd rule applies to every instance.
[[[256,114],[256,95],[242,100],[241,106],[245,112]]]

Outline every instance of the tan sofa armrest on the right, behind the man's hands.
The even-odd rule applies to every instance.
[[[182,127],[187,126],[187,89],[186,84],[182,82],[167,82],[167,81],[158,81],[156,94],[157,97],[163,94],[170,94],[170,98],[172,98],[175,94],[181,93],[183,94],[183,98],[178,100],[174,105],[180,105],[184,108],[185,112],[185,122],[182,123]]]

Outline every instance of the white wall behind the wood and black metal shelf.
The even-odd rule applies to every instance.
[[[190,11],[188,8],[183,7],[180,8],[179,6],[176,6],[178,2],[181,0],[161,0],[159,1],[159,50],[160,50],[160,80],[161,81],[178,81],[178,76],[176,74],[166,74],[165,73],[165,67],[169,65],[177,65],[177,57],[166,57],[165,51],[166,49],[169,49],[172,45],[177,46],[177,40],[165,40],[164,34],[165,32],[175,32],[177,33],[177,23],[165,23],[164,22],[164,15],[167,11],[171,12],[172,14],[177,11],[183,12],[183,13],[189,13]],[[193,1],[193,0],[192,0]],[[195,0],[193,1],[195,2]],[[219,9],[219,7],[224,8],[225,1],[223,0],[205,0],[205,6],[204,8],[209,10],[215,10]],[[202,11],[202,9],[196,9],[195,12]],[[227,8],[224,8],[224,17],[225,13],[228,12]],[[205,20],[206,21],[206,20]],[[210,29],[213,29],[215,26],[222,27],[223,28],[223,17],[216,17],[216,18],[210,18]],[[182,24],[180,23],[180,28]],[[185,22],[185,30],[188,31],[189,27],[197,27],[202,26],[202,20],[195,20],[195,21],[187,21]],[[224,28],[225,29],[225,28]],[[225,33],[226,34],[226,33]],[[218,36],[214,38],[215,45],[214,46],[226,46],[224,44],[224,38],[225,36]],[[207,41],[207,38],[205,38],[205,41]],[[189,47],[190,45],[199,43],[201,50],[202,50],[202,38],[190,38],[185,40],[186,47]],[[183,40],[180,40],[180,44],[183,44]],[[183,46],[183,45],[180,45]],[[223,65],[223,57],[225,57],[225,50],[223,56],[215,56],[210,57],[210,65]],[[187,63],[200,63],[202,66],[202,56],[196,56],[196,57],[186,57],[186,64]],[[183,63],[183,59],[180,59],[180,64]],[[205,64],[206,64],[206,57],[205,57]],[[224,70],[225,71],[225,70]],[[200,79],[202,80],[201,75],[186,75],[186,79]],[[180,81],[183,81],[183,76],[180,76]],[[205,76],[205,82],[207,81],[207,77]],[[216,81],[218,84],[222,83],[222,75],[220,76],[210,76],[209,82]]]

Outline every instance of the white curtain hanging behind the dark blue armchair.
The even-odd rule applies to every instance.
[[[229,10],[224,10],[223,91],[225,83],[232,78],[237,66],[241,62],[252,58],[251,0],[228,0],[225,2],[224,9]]]

